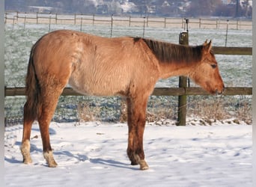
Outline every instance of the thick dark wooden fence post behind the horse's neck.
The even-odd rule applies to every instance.
[[[189,30],[188,24],[189,19],[186,20],[187,30],[180,33],[179,43],[182,45],[189,45]],[[187,77],[179,77],[179,88],[186,88]],[[186,95],[178,97],[178,117],[177,117],[177,126],[186,126]]]

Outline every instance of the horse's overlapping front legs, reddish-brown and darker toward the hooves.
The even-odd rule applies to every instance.
[[[129,138],[127,155],[132,165],[140,165],[141,170],[147,170],[144,161],[143,134],[146,121],[147,98],[142,100],[127,99]]]

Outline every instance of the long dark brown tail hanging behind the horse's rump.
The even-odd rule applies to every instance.
[[[24,120],[35,120],[40,110],[40,85],[37,74],[34,69],[34,49],[37,43],[31,49],[28,72],[25,79],[25,95],[27,102],[24,105]]]

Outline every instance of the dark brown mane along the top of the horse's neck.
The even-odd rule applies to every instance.
[[[201,61],[203,46],[183,46],[174,43],[150,40],[134,37],[134,41],[143,40],[156,58],[161,62],[184,62]]]

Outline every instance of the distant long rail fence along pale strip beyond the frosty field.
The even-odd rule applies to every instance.
[[[19,13],[5,12],[4,22],[10,24],[71,24],[71,25],[124,25],[146,26],[162,28],[184,28],[186,24],[182,18],[170,17],[135,17],[135,16],[99,16],[86,14],[57,14],[57,13]],[[210,19],[189,18],[189,28],[216,29],[250,29],[252,20],[240,19]]]

